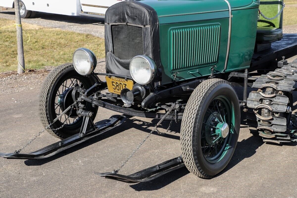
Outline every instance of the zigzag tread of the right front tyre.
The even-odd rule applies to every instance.
[[[203,102],[206,98],[203,98],[203,96],[207,96],[206,92],[209,90],[209,88],[222,81],[222,83],[229,84],[227,81],[222,79],[208,79],[203,81],[200,85],[198,85],[193,93],[191,94],[185,111],[184,116],[181,121],[181,151],[182,151],[182,158],[184,160],[184,163],[187,167],[187,169],[192,172],[193,174],[197,175],[200,178],[211,178],[211,175],[208,175],[205,173],[200,165],[198,164],[198,161],[195,160],[195,157],[193,155],[193,145],[192,145],[192,135],[193,135],[193,127],[194,127],[194,121],[195,117],[198,111],[198,108],[202,102],[201,105],[203,105]]]

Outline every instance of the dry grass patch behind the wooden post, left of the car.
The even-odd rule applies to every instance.
[[[15,22],[0,19],[0,28],[13,25]],[[43,28],[23,23],[24,55],[26,69],[42,69],[44,66],[58,66],[72,62],[72,54],[79,47],[92,50],[97,58],[105,57],[104,39],[91,34],[80,34],[52,28]],[[0,29],[0,72],[16,70],[17,42],[16,28]]]

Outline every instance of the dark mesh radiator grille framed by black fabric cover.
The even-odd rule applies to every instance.
[[[113,53],[120,59],[143,54],[142,28],[129,25],[111,26]]]

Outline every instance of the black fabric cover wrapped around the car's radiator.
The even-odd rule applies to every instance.
[[[122,1],[105,14],[106,72],[130,76],[129,64],[136,55],[146,55],[157,66],[155,81],[161,81],[159,20],[156,11],[139,1]]]

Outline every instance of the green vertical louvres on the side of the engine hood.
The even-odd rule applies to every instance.
[[[184,69],[218,61],[219,25],[176,28],[170,34],[171,69]]]

